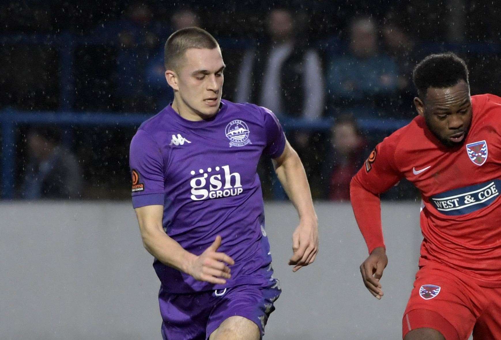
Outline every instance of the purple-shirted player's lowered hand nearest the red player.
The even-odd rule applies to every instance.
[[[292,234],[293,255],[289,265],[294,266],[293,272],[315,261],[318,253],[318,222],[317,219],[301,221]]]

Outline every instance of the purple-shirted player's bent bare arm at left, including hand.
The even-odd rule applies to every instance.
[[[146,250],[160,262],[181,270],[199,281],[224,284],[231,277],[227,264],[234,264],[233,259],[224,253],[217,252],[221,245],[221,237],[205,251],[196,256],[184,250],[179,243],[170,238],[163,230],[163,206],[152,205],[136,208],[141,238]]]

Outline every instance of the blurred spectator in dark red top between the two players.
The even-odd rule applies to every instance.
[[[367,141],[360,133],[353,116],[339,116],[331,129],[331,138],[324,157],[324,199],[346,202],[350,200],[351,178],[363,165],[367,151]]]

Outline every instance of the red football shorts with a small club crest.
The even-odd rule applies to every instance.
[[[402,337],[433,328],[446,340],[501,339],[501,288],[487,288],[450,267],[430,263],[419,269],[402,318]]]

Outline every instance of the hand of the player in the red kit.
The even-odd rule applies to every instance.
[[[386,257],[386,250],[383,247],[377,247],[360,265],[360,273],[362,274],[365,287],[379,300],[384,295],[379,280],[383,276],[383,270],[387,264],[388,257]]]

